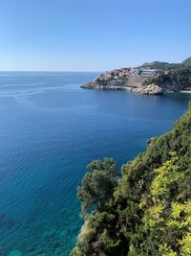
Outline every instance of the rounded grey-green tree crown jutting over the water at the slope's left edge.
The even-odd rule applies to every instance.
[[[87,169],[89,172],[84,175],[81,186],[77,188],[82,216],[93,207],[103,208],[117,187],[117,165],[113,158],[93,161]]]

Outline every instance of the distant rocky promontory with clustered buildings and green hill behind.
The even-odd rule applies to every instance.
[[[191,92],[191,58],[181,63],[154,61],[138,67],[106,71],[81,85],[82,88],[99,90],[129,90],[157,95],[168,92]]]

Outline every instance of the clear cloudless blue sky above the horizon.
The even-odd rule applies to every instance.
[[[103,71],[191,56],[191,0],[0,0],[0,70]]]

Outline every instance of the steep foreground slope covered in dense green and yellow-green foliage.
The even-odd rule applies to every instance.
[[[174,128],[122,166],[92,162],[77,188],[73,256],[191,255],[191,103]]]

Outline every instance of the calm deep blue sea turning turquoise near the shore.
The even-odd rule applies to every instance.
[[[104,156],[118,166],[132,159],[191,99],[79,88],[96,75],[0,73],[1,256],[68,256],[85,166]]]

